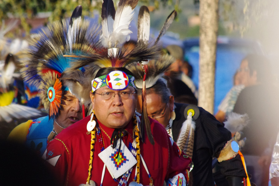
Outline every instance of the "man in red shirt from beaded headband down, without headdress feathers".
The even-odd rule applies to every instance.
[[[90,97],[94,114],[63,130],[43,154],[61,185],[187,184],[191,159],[160,123],[149,118],[154,145],[145,130],[140,140],[130,71],[101,68]]]

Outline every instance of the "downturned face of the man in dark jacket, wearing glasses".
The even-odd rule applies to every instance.
[[[141,95],[138,96],[140,108],[142,107]],[[146,96],[147,114],[165,127],[169,124],[170,112],[173,110],[174,99],[170,96],[168,103],[163,103],[160,95],[155,93]]]

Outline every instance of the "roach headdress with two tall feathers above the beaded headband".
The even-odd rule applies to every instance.
[[[138,0],[120,0],[115,11],[113,1],[104,0],[102,6],[102,35],[100,42],[95,44],[95,49],[98,52],[72,56],[82,59],[75,60],[68,71],[74,71],[87,65],[126,67],[133,62],[148,61],[155,58],[160,52],[160,47],[156,44],[137,42],[133,50],[129,52],[125,47],[122,47],[122,44],[130,39],[129,24],[137,2]],[[145,30],[149,32],[149,27]]]

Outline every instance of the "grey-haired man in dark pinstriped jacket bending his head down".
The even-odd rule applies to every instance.
[[[180,128],[187,119],[184,116],[188,104],[174,103],[166,84],[157,80],[155,85],[146,89],[148,116],[163,124],[169,135],[176,142]],[[141,90],[138,90],[138,100],[141,100]],[[141,103],[139,101],[139,105]],[[231,139],[231,133],[215,119],[215,117],[196,107],[199,115],[195,119],[195,132],[193,144],[193,185],[213,186],[212,158],[219,157],[220,151]],[[187,110],[186,110],[187,113]],[[197,112],[196,112],[197,113]],[[219,162],[222,174],[226,177],[228,185],[243,185],[246,173],[239,155],[230,157],[230,160]]]

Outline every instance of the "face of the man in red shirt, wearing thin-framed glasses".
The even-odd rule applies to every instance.
[[[113,91],[108,86],[103,86],[91,93],[92,106],[95,111],[96,118],[106,127],[123,128],[132,119],[135,114],[136,94],[129,95],[129,98],[123,99],[119,94],[115,94],[111,99],[104,99],[100,95],[102,92],[129,92],[134,93],[135,88],[128,86],[122,91]]]

